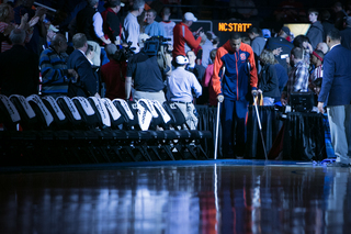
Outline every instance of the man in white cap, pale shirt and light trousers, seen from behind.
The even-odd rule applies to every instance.
[[[167,97],[169,97],[170,101],[176,102],[182,111],[189,127],[196,130],[199,120],[192,93],[194,92],[195,97],[199,98],[202,94],[202,87],[196,77],[184,69],[186,63],[188,58],[185,56],[179,55],[176,57],[177,68],[172,70],[167,79]]]

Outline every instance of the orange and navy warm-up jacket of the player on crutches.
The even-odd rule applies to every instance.
[[[224,76],[223,66],[225,66]],[[219,47],[214,60],[212,80],[216,94],[223,94],[230,100],[244,100],[248,92],[257,89],[257,68],[251,46],[241,43],[239,52],[234,52],[228,41]]]

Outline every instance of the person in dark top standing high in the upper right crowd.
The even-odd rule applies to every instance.
[[[308,37],[312,48],[315,49],[317,44],[322,42],[324,30],[321,23],[318,21],[318,11],[310,9],[308,11],[308,20],[312,23],[306,36]]]

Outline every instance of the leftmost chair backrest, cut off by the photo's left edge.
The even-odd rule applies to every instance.
[[[8,97],[0,94],[0,123],[3,124],[5,130],[15,130],[20,121],[21,116],[18,109]]]

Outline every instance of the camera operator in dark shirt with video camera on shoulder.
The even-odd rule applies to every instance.
[[[134,80],[133,98],[166,101],[163,74],[170,70],[170,59],[167,59],[167,49],[162,45],[163,37],[151,37],[145,42],[145,47],[129,58],[125,79],[125,94],[129,99],[132,79]],[[160,63],[159,59],[165,59]],[[166,66],[160,66],[167,64]]]

